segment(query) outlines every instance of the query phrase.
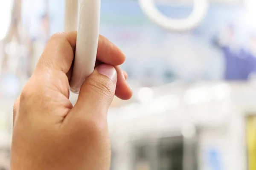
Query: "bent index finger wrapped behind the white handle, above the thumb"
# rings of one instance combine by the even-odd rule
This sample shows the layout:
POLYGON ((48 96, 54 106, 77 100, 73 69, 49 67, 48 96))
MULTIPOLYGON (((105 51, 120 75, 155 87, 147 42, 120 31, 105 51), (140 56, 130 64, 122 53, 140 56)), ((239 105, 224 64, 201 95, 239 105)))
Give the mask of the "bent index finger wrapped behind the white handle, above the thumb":
MULTIPOLYGON (((76 51, 77 31, 54 34, 46 45, 35 71, 70 70, 76 51)), ((99 35, 97 60, 110 65, 121 65, 125 54, 107 38, 99 35)))

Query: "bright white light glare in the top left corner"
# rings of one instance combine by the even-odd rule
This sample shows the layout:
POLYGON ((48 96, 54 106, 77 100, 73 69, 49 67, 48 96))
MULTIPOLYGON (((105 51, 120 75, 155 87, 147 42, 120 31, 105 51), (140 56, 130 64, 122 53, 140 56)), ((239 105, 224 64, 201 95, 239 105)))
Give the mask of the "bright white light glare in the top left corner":
POLYGON ((0 0, 0 40, 6 36, 11 22, 12 0, 0 0))

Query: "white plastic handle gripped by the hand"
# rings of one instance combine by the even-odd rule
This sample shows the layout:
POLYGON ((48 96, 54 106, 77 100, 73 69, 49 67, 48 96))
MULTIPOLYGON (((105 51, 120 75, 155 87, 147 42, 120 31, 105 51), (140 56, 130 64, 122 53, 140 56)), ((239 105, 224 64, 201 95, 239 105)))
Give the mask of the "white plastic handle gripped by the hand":
POLYGON ((70 80, 70 90, 74 93, 79 93, 82 83, 94 70, 99 40, 99 19, 100 0, 66 0, 65 31, 78 29, 76 55, 70 80))

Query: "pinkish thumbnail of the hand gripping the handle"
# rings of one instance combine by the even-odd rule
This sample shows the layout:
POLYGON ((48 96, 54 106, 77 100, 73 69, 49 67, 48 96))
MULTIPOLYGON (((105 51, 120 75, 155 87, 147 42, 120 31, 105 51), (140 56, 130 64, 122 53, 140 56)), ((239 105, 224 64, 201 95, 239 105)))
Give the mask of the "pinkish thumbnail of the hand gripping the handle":
POLYGON ((116 69, 112 65, 102 64, 97 68, 97 71, 99 72, 99 74, 107 76, 113 82, 116 82, 117 80, 116 69))

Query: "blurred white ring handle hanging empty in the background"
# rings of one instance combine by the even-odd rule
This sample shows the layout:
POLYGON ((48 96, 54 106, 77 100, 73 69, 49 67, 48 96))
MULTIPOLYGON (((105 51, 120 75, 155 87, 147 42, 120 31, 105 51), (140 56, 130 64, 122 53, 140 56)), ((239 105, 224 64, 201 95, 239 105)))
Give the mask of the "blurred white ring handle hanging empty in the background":
POLYGON ((144 14, 153 23, 171 31, 187 31, 195 28, 204 20, 209 8, 209 0, 194 0, 194 9, 189 17, 175 20, 163 15, 154 0, 139 0, 139 4, 144 14))

